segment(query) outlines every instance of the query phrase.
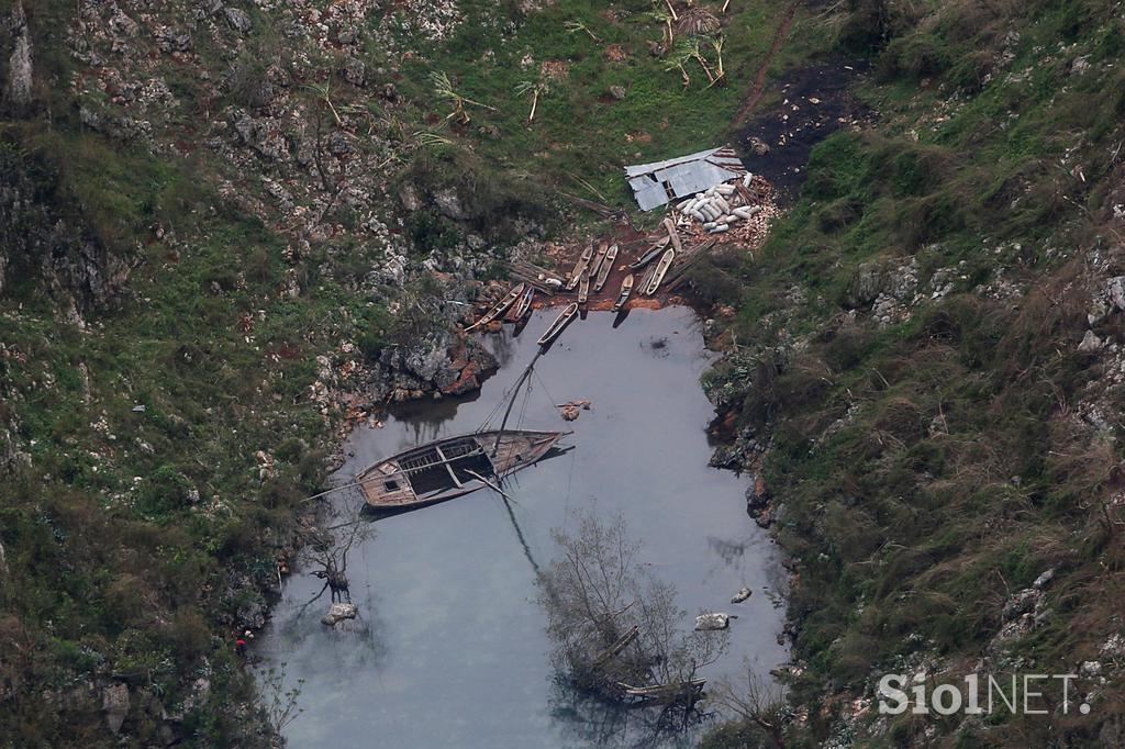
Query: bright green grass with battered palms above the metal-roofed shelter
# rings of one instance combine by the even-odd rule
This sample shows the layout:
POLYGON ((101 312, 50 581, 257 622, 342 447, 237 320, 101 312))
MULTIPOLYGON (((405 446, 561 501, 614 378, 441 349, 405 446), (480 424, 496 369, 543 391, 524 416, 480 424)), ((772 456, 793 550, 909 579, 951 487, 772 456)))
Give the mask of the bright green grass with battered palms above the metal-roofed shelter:
MULTIPOLYGON (((460 144, 558 189, 621 206, 629 205, 629 192, 620 166, 728 137, 784 9, 780 3, 734 3, 723 16, 728 85, 706 88, 702 67, 692 62, 686 65, 692 84, 685 89, 680 73, 666 70, 665 60, 649 51, 648 42, 659 40, 662 31, 647 0, 614 2, 609 9, 586 0, 551 3, 523 18, 514 34, 504 34, 494 21, 495 3, 474 0, 461 7, 467 20, 451 39, 425 58, 403 64, 403 89, 416 101, 430 102, 423 114, 431 121, 444 118, 448 110, 433 102, 429 76, 435 70, 447 73, 461 93, 496 109, 470 107, 472 123, 460 144), (567 21, 584 24, 600 42, 572 30, 567 21), (621 60, 611 58, 611 47, 621 60), (521 65, 525 55, 532 61, 526 67, 521 65), (567 74, 551 84, 529 126, 531 99, 515 89, 537 80, 548 61, 565 63, 567 74), (614 85, 626 89, 623 100, 611 98, 614 85)), ((778 65, 808 49, 811 39, 795 38, 778 65)), ((708 54, 714 62, 714 53, 708 54)))

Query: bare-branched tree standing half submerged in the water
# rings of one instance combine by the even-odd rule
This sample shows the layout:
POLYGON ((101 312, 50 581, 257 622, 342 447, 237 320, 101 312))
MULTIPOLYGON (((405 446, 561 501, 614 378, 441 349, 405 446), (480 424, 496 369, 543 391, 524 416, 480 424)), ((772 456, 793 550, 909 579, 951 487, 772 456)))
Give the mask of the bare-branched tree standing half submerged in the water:
POLYGON ((540 602, 556 666, 604 697, 694 706, 699 669, 726 650, 727 632, 684 631, 675 587, 644 571, 620 516, 582 513, 574 533, 554 536, 561 553, 541 577, 540 602))

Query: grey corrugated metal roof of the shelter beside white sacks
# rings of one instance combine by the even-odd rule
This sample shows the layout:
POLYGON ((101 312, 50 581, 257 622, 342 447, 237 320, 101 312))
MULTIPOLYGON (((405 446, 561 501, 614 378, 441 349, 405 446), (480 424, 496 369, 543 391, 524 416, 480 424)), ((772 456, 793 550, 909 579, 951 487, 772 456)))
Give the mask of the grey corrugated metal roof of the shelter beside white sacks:
POLYGON ((651 164, 626 166, 629 187, 641 210, 651 210, 669 200, 702 192, 745 173, 742 162, 728 147, 709 148, 651 164))

